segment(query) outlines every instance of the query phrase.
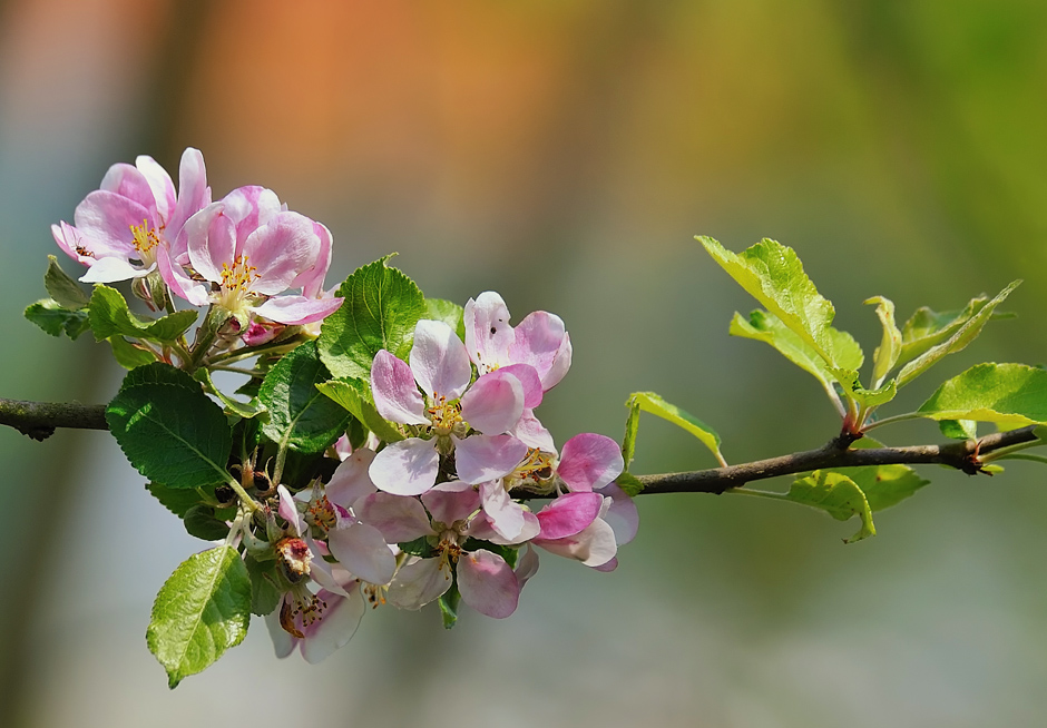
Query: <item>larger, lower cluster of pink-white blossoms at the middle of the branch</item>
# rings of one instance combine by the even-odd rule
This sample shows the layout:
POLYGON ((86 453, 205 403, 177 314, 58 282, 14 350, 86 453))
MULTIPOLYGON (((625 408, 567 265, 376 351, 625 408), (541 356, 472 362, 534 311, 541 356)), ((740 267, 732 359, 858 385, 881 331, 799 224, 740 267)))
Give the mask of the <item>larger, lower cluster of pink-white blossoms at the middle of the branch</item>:
POLYGON ((558 452, 535 416, 570 366, 562 321, 536 312, 512 327, 493 292, 470 299, 463 318, 464 343, 423 319, 408 362, 374 357, 375 406, 403 440, 344 453, 327 483, 296 499, 278 488, 285 538, 297 544, 278 555, 284 572, 319 589, 290 589, 268 619, 281 656, 300 646, 323 659, 366 602, 419 609, 452 586, 474 610, 509 617, 538 570, 535 547, 610 571, 635 535, 636 508, 614 482, 618 444, 585 433, 558 452), (535 512, 521 499, 546 503, 535 512))

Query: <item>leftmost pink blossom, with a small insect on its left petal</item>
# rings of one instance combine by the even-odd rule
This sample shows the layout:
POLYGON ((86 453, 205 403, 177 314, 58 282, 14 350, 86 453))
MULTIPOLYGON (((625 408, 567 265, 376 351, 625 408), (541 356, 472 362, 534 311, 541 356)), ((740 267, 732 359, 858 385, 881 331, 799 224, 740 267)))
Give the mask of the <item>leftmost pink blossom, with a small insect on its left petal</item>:
POLYGON ((135 166, 116 164, 99 189, 77 205, 76 225, 51 226, 58 246, 88 266, 85 283, 140 278, 156 269, 159 258, 177 255, 176 243, 186 220, 211 203, 211 188, 199 150, 182 155, 176 196, 170 176, 153 157, 135 166))

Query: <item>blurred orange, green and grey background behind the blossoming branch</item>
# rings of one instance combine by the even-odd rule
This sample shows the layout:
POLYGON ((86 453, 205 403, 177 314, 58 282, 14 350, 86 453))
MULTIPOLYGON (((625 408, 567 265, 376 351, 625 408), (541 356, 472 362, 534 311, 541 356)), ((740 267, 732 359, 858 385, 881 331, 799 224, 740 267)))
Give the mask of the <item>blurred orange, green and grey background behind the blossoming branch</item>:
MULTIPOLYGON (((559 314, 574 371, 540 412, 559 442, 619 439, 626 396, 654 390, 731 462, 818 446, 832 407, 727 336, 754 302, 693 236, 794 247, 870 357, 867 297, 903 321, 1025 278, 1019 318, 889 412, 978 361, 1044 362, 1045 78, 1047 4, 1022 0, 0 0, 0 396, 115 394, 108 347, 21 318, 58 253, 48 226, 114 161, 174 171, 194 146, 216 199, 265 185, 333 230, 331 284, 398 250, 431 296, 559 314)), ((1024 463, 929 470, 853 545, 854 523, 800 506, 640 498, 615 573, 545 557, 506 621, 444 632, 433 610, 379 609, 310 667, 277 661, 255 620, 172 692, 144 633, 206 544, 106 433, 4 429, 0 462, 3 726, 1047 720, 1047 488, 1024 463)), ((643 422, 636 472, 712 465, 643 422)))

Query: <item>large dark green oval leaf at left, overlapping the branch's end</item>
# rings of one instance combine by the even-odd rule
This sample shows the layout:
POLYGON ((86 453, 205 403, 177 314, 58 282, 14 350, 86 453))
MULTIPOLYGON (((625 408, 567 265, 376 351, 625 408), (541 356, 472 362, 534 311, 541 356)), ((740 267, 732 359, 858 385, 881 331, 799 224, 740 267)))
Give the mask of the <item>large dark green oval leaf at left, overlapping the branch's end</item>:
POLYGON ((106 422, 139 473, 168 488, 226 482, 233 434, 222 407, 169 364, 131 370, 106 422))

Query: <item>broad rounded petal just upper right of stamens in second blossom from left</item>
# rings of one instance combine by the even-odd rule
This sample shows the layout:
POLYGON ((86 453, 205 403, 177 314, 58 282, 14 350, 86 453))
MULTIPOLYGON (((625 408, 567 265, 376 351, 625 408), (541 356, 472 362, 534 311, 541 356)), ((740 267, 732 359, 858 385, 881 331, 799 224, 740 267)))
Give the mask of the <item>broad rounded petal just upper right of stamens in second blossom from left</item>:
POLYGON ((316 265, 320 238, 313 222, 297 213, 278 213, 247 236, 241 255, 258 276, 252 293, 275 296, 291 287, 299 274, 316 265))

